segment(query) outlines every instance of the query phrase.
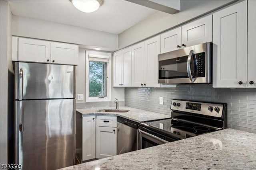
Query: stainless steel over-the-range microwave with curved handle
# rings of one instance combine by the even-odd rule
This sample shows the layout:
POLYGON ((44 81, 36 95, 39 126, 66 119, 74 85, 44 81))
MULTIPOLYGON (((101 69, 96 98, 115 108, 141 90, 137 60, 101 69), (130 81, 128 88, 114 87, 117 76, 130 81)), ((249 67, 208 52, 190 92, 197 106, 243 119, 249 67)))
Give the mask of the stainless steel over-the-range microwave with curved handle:
POLYGON ((212 82, 212 43, 203 43, 158 55, 158 83, 212 82))

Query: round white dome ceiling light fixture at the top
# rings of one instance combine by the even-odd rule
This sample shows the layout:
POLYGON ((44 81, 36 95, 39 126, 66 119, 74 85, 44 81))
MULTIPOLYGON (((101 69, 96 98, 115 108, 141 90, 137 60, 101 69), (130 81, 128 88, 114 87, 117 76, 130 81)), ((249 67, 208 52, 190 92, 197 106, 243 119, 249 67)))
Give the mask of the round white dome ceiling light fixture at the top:
POLYGON ((70 0, 74 7, 82 12, 94 12, 104 4, 104 0, 70 0))

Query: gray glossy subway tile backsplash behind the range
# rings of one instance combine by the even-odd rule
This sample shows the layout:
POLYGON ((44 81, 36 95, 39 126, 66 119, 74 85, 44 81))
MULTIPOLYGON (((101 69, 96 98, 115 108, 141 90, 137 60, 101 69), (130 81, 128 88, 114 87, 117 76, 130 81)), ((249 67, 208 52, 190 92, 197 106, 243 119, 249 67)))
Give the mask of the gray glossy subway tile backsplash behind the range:
POLYGON ((170 115, 172 99, 225 102, 228 127, 256 133, 256 89, 212 88, 212 85, 177 85, 177 88, 125 88, 125 106, 170 115), (159 97, 164 105, 159 105, 159 97))

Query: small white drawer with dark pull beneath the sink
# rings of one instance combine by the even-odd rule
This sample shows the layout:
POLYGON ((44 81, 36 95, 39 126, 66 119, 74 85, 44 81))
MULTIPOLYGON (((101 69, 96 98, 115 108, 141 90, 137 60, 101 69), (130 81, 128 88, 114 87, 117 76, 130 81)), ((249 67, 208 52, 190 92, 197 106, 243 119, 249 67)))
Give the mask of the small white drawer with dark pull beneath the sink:
POLYGON ((97 116, 96 126, 116 127, 116 116, 97 116))

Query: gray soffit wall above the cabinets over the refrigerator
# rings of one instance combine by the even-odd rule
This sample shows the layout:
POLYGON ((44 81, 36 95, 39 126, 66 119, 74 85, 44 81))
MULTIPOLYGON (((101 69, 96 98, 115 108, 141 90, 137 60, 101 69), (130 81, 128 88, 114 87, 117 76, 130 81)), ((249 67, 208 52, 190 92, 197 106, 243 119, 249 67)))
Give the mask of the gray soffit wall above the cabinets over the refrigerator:
POLYGON ((12 35, 17 36, 96 46, 109 51, 118 47, 118 35, 113 33, 20 16, 13 16, 12 26, 12 35))

